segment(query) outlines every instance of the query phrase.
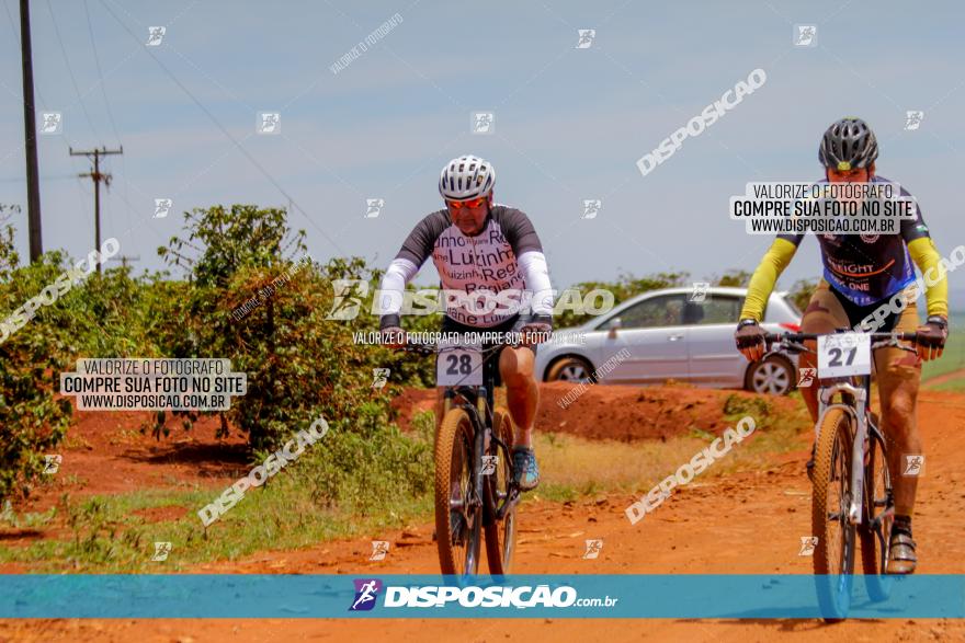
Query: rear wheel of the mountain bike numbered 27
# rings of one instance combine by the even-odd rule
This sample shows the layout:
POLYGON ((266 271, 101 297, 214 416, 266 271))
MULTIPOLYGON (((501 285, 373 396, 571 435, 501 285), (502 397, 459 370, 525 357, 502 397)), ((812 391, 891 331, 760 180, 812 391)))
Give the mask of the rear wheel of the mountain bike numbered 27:
POLYGON ((888 460, 884 446, 874 436, 869 440, 864 482, 864 524, 858 530, 861 569, 867 595, 872 600, 881 601, 890 596, 895 581, 886 574, 895 506, 888 460))

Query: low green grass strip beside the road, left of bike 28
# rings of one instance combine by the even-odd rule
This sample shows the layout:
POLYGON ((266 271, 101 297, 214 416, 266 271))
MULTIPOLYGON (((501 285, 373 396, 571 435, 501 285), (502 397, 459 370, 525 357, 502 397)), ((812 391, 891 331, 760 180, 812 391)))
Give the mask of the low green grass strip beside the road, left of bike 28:
MULTIPOLYGON (((245 500, 205 529, 196 510, 216 493, 136 492, 92 496, 82 502, 65 497, 46 515, 15 516, 19 527, 67 525, 68 540, 38 540, 26 547, 0 547, 0 561, 36 563, 37 572, 174 572, 193 564, 237 560, 258 551, 296 549, 336 538, 404 527, 431 514, 431 498, 394 498, 391 508, 370 515, 314 506, 297 480, 280 480, 249 491, 245 500), (188 508, 178 520, 149 523, 138 509, 188 508), (151 561, 155 542, 171 542, 168 561, 151 561)), ((295 478, 287 475, 287 478, 295 478)))

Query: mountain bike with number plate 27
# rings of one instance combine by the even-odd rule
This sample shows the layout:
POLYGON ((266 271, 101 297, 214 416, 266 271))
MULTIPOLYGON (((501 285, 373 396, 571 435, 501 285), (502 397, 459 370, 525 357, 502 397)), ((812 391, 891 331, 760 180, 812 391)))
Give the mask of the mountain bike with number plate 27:
POLYGON ((815 425, 811 538, 815 588, 821 615, 839 621, 851 607, 855 546, 861 541, 865 588, 874 601, 888 598, 888 546, 895 518, 892 472, 878 418, 869 407, 873 352, 915 342, 916 333, 769 334, 788 353, 815 353, 819 414, 815 425), (802 342, 817 341, 817 351, 802 342), (858 466, 855 466, 858 463, 858 466))

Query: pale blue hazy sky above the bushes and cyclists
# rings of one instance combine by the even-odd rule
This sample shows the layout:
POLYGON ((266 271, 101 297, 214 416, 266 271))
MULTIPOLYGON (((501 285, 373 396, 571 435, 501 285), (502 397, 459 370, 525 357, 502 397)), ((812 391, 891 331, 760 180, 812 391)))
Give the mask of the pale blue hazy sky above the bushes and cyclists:
MULTIPOLYGON (((25 206, 19 9, 2 1, 0 203, 25 206)), ((497 200, 533 219, 557 286, 752 269, 770 240, 728 219, 728 197, 749 181, 818 177, 820 134, 859 115, 878 135, 878 172, 918 196, 946 254, 965 243, 954 179, 965 7, 919 7, 34 0, 38 111, 64 114, 64 134, 39 139, 44 246, 78 256, 93 244, 92 186, 75 176, 88 163, 68 146, 123 143, 105 162, 103 236, 150 269, 181 211, 290 198, 315 259, 387 264, 441 206, 443 163, 472 152, 495 164, 497 200), (396 13, 390 33, 332 73, 396 13), (793 46, 795 24, 818 26, 816 47, 793 46), (152 25, 167 33, 145 47, 152 25), (597 30, 591 47, 576 48, 578 28, 597 30), (761 89, 640 175, 638 158, 756 68, 761 89), (918 130, 904 129, 908 110, 924 112, 918 130), (281 113, 281 135, 256 134, 259 111, 281 113), (493 135, 470 133, 474 111, 495 113, 493 135), (151 219, 158 197, 177 216, 151 219), (378 218, 364 217, 368 197, 385 199, 378 218), (584 198, 603 200, 597 218, 580 218, 584 198)), ((25 213, 12 222, 25 255, 25 213)), ((806 240, 781 286, 816 276, 818 262, 806 240)), ((433 278, 427 266, 418 280, 433 278)))

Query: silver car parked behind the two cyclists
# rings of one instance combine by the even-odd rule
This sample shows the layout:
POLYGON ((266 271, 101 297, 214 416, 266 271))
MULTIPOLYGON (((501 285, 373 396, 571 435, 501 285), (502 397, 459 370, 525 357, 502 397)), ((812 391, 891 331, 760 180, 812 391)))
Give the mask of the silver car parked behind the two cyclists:
MULTIPOLYGON (((775 354, 748 364, 734 344, 746 288, 651 290, 542 344, 536 377, 544 381, 647 384, 666 380, 785 394, 797 383, 796 359, 775 354), (572 338, 572 341, 569 341, 572 338), (605 365, 605 366, 604 366, 605 365)), ((797 331, 801 312, 786 292, 764 311, 769 332, 797 331)))

